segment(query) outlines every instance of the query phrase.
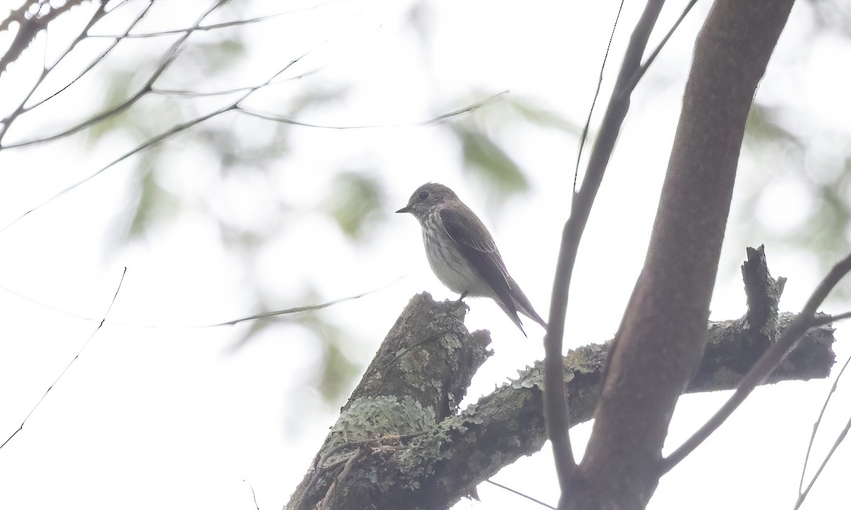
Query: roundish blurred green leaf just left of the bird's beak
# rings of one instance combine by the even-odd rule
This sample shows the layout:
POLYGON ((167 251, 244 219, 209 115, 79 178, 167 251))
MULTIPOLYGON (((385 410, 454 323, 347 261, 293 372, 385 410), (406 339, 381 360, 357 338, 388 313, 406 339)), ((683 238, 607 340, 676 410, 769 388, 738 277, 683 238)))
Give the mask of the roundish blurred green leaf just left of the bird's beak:
POLYGON ((384 210, 381 184, 364 173, 340 173, 331 184, 325 208, 346 235, 360 239, 384 210))

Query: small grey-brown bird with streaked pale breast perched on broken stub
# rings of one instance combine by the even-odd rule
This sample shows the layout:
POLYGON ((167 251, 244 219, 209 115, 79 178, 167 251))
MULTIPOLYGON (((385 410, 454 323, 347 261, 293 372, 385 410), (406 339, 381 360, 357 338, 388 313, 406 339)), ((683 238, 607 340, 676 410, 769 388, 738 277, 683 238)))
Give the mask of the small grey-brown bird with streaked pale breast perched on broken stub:
POLYGON ((459 292, 460 299, 490 297, 523 336, 527 335, 518 312, 546 328, 505 269, 488 228, 453 190, 443 184, 423 184, 397 212, 409 212, 420 222, 431 270, 449 290, 459 292))

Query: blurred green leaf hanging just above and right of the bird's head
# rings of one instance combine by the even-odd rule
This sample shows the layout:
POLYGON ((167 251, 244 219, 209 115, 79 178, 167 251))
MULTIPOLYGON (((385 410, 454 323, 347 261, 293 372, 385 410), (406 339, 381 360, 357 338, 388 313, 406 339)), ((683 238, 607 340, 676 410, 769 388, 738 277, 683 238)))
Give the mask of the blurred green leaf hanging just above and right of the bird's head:
POLYGON ((528 189, 528 180, 517 163, 487 134, 459 125, 454 132, 461 139, 464 160, 476 173, 503 193, 528 189))

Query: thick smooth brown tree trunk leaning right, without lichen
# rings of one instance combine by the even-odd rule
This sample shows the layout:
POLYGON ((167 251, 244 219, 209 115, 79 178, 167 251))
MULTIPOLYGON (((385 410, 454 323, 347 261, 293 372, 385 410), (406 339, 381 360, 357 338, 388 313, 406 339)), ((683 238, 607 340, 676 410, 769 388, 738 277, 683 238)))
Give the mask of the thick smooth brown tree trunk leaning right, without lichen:
POLYGON ((571 508, 643 508, 706 317, 745 121, 792 0, 717 0, 700 31, 647 259, 610 356, 571 508))

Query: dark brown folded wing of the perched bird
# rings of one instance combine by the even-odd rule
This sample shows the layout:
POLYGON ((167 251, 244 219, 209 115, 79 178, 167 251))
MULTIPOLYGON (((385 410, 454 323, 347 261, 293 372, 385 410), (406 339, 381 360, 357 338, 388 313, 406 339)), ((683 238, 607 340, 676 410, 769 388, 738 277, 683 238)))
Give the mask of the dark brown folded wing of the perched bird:
POLYGON ((446 233, 455 241, 461 254, 494 289, 494 292, 502 301, 501 305, 505 309, 505 313, 523 331, 520 318, 517 316, 517 307, 514 306, 514 300, 511 299, 511 286, 509 284, 511 277, 505 269, 500 251, 496 249, 496 243, 494 238, 490 236, 488 229, 472 211, 469 211, 469 214, 463 214, 461 211, 447 207, 442 209, 439 214, 443 220, 446 233))

